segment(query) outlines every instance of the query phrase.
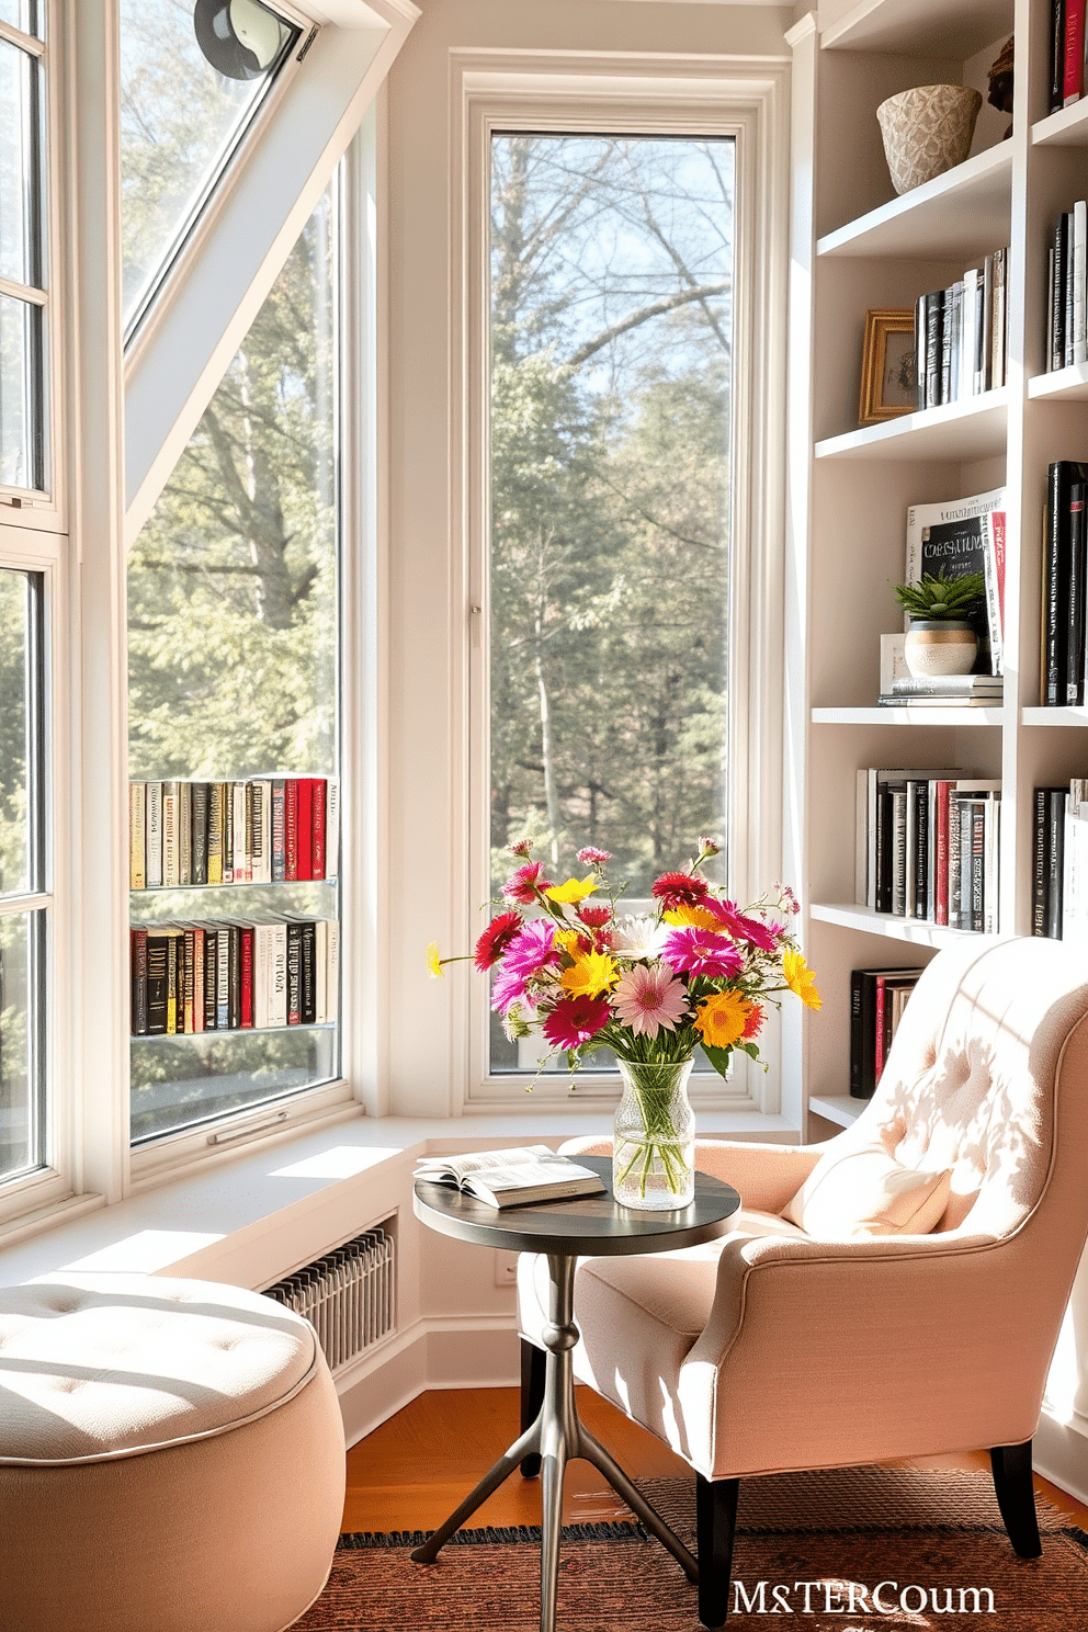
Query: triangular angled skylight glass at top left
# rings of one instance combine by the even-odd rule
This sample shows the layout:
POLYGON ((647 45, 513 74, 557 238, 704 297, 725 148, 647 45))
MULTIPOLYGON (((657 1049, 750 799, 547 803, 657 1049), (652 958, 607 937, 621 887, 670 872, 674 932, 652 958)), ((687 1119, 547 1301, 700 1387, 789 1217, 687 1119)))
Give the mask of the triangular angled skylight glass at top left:
POLYGON ((263 0, 121 0, 126 338, 300 36, 263 0))

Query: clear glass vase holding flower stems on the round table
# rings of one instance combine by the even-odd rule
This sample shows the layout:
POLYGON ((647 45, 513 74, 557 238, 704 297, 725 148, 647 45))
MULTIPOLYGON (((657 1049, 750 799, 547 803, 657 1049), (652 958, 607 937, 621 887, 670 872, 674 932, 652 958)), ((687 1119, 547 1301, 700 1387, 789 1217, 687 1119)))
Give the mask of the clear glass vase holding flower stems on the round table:
POLYGON ((692 1061, 618 1064, 623 1098, 612 1144, 613 1195, 625 1208, 685 1208, 695 1195, 695 1113, 687 1097, 692 1061))

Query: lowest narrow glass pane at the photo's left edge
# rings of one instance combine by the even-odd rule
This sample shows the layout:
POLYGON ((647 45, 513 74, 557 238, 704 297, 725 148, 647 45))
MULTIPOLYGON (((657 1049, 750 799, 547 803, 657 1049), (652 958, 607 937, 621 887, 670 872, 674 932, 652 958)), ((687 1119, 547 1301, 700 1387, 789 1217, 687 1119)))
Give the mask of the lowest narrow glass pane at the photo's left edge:
POLYGON ((44 1162, 44 912, 0 917, 0 1180, 44 1162))

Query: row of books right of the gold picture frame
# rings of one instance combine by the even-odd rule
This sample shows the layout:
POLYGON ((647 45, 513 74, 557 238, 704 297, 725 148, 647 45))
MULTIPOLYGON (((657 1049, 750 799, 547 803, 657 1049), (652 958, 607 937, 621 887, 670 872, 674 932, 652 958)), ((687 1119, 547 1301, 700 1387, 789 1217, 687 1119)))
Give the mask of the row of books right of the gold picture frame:
POLYGON ((1005 384, 1008 250, 969 266, 949 289, 918 295, 913 313, 918 408, 980 397, 1005 384))

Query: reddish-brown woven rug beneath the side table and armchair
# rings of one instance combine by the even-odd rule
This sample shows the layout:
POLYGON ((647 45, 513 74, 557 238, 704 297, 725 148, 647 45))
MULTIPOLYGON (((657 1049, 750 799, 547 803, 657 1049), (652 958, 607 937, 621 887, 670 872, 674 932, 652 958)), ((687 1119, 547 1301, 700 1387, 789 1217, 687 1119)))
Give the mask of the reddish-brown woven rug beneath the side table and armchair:
MULTIPOLYGON (((693 1549, 693 1485, 643 1488, 693 1549)), ((1037 1510, 1042 1557, 1024 1560, 985 1474, 869 1467, 747 1480, 729 1625, 1088 1632, 1088 1536, 1047 1503, 1037 1510)), ((343 1536, 299 1632, 537 1632, 538 1529, 462 1531, 432 1565, 409 1559, 421 1541, 343 1536)), ((695 1588, 638 1524, 564 1528, 558 1632, 698 1625, 695 1588)))

